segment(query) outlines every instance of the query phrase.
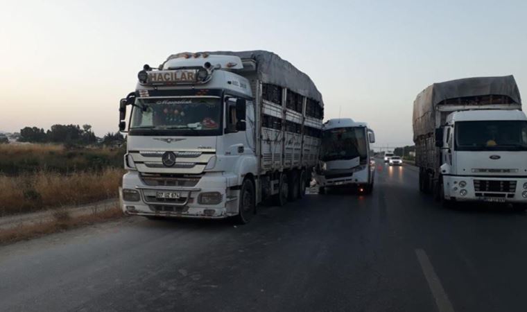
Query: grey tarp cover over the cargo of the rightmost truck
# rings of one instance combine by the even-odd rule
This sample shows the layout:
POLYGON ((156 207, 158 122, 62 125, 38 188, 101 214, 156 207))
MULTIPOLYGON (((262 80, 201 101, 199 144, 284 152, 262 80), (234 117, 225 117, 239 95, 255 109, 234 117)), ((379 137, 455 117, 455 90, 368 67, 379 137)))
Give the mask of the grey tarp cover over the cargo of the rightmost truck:
POLYGON ((451 98, 484 95, 509 96, 521 104, 514 76, 475 77, 434 83, 426 87, 413 102, 413 140, 435 130, 436 105, 451 98))

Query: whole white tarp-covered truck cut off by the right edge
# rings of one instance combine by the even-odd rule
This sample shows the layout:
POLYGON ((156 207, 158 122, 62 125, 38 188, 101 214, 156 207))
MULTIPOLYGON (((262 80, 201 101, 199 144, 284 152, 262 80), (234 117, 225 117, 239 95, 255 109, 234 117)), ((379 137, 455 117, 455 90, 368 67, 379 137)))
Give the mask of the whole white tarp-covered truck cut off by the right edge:
POLYGON ((419 186, 453 201, 527 203, 527 118, 513 76, 435 83, 414 102, 419 186))

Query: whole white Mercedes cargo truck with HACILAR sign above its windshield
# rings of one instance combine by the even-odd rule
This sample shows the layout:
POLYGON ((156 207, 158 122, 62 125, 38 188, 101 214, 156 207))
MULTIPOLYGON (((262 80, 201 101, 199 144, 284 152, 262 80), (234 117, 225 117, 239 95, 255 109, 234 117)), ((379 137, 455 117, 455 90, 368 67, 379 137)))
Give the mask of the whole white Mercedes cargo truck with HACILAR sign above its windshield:
POLYGON ((322 96, 267 51, 178 53, 138 73, 121 100, 128 123, 122 209, 247 223, 266 198, 304 196, 318 162, 322 96))

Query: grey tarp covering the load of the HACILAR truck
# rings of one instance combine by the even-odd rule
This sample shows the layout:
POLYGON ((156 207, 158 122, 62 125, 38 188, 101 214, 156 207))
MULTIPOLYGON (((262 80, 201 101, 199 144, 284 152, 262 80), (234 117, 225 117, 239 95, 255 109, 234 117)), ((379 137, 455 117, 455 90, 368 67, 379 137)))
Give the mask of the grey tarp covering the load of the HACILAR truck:
MULTIPOLYGON (((305 73, 298 70, 290 62, 282 60, 278 55, 269 51, 204 51, 198 53, 209 53, 210 55, 235 55, 242 60, 256 60, 257 62, 257 78, 263 83, 270 83, 272 85, 279 85, 280 87, 286 87, 291 91, 307 96, 320 103, 320 106, 324 107, 322 102, 322 94, 318 92, 316 85, 313 80, 309 78, 305 73)), ((170 55, 166 60, 172 58, 178 58, 182 53, 170 55)))

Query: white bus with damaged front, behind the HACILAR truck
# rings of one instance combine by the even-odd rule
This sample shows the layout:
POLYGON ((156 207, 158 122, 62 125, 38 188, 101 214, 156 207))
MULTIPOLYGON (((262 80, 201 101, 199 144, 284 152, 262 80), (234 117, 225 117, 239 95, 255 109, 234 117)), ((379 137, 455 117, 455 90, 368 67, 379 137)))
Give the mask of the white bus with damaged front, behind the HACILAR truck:
POLYGON ((371 193, 374 164, 370 162, 373 130, 366 123, 349 118, 329 119, 324 123, 320 164, 315 179, 319 193, 329 187, 349 187, 359 193, 371 193))

